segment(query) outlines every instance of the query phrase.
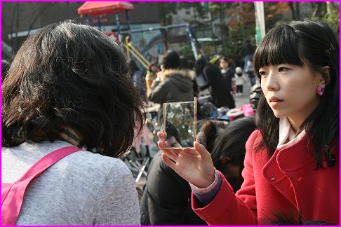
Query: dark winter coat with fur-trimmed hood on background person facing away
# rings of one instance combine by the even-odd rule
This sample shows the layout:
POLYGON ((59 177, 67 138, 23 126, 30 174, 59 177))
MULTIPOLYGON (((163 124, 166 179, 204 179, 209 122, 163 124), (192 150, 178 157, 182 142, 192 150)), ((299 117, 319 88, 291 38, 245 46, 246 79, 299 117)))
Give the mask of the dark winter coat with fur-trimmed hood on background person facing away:
POLYGON ((168 69, 163 71, 161 80, 156 79, 152 84, 149 99, 152 102, 185 102, 194 99, 194 74, 188 70, 168 69))

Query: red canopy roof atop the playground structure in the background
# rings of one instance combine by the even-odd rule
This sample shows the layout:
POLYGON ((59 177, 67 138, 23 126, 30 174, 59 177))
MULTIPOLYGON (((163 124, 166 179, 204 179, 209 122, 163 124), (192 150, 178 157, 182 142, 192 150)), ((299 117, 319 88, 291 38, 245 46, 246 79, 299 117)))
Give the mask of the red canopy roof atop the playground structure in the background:
POLYGON ((78 8, 79 15, 102 15, 121 11, 133 11, 134 5, 128 1, 86 1, 78 8))

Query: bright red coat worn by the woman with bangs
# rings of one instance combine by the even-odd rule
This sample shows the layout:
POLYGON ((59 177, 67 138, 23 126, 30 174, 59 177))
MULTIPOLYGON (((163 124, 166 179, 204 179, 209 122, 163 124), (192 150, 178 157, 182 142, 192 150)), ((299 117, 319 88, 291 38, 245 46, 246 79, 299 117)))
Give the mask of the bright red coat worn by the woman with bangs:
MULTIPOLYGON (((272 158, 267 151, 255 151, 262 136, 256 130, 246 142, 244 178, 234 195, 225 177, 212 202, 200 208, 192 193, 192 208, 210 225, 264 225, 274 214, 297 216, 303 221, 339 223, 339 144, 333 146, 333 167, 316 170, 312 144, 308 151, 305 137, 293 145, 276 150, 272 158), (257 195, 257 198, 256 198, 257 195)), ((326 166, 326 161, 323 161, 326 166)))

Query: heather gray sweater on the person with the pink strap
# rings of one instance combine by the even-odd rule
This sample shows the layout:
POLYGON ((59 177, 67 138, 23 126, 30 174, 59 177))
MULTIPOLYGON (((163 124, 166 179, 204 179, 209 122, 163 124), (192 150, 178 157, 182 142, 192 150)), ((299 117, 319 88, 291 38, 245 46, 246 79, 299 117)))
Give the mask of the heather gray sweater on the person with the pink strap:
MULTIPOLYGON (((1 148, 1 183, 13 183, 36 160, 67 142, 1 148)), ((122 160, 72 153, 27 187, 16 225, 140 225, 138 193, 122 160)))

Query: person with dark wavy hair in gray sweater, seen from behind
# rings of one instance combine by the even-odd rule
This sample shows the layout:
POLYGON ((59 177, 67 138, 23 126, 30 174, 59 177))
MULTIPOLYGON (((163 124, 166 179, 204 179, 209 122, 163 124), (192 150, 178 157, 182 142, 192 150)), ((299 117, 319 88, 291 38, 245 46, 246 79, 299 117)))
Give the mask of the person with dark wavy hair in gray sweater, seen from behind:
POLYGON ((1 88, 3 224, 140 224, 133 176, 118 158, 144 106, 116 43, 86 25, 48 25, 22 44, 1 88))

